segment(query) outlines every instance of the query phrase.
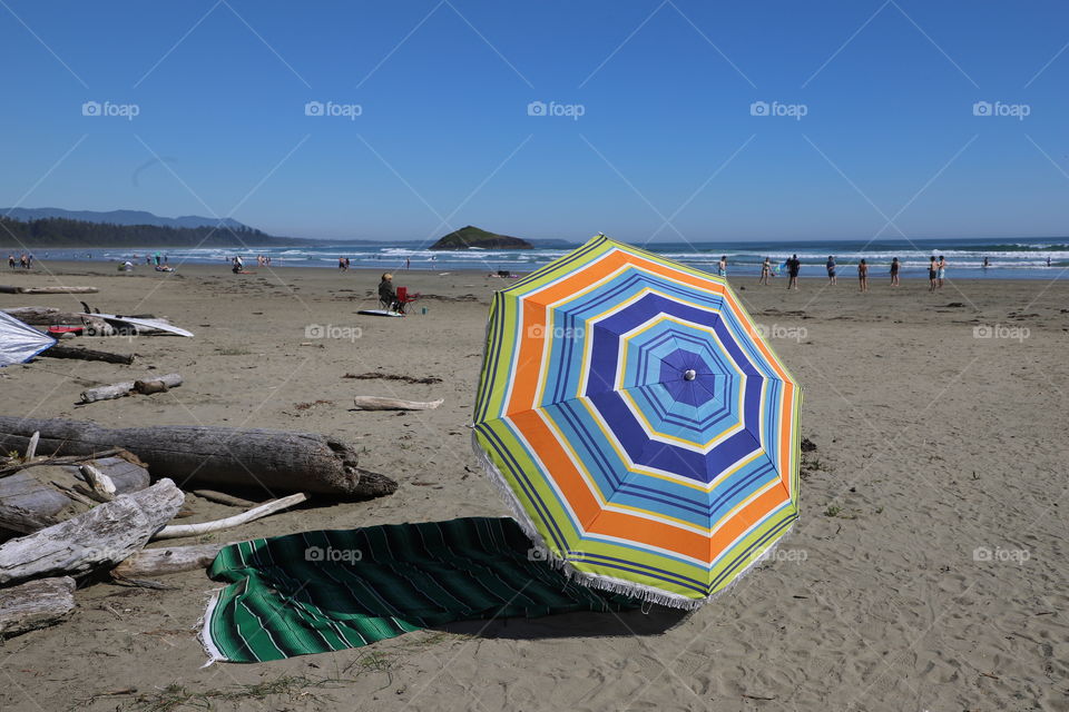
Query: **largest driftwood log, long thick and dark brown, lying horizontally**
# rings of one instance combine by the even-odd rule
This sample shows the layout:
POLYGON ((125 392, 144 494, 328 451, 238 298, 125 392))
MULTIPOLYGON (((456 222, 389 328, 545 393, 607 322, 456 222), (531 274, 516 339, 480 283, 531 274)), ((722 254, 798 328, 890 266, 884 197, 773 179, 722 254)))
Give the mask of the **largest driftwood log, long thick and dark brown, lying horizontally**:
POLYGON ((398 488, 390 477, 360 468, 352 447, 316 433, 194 425, 109 429, 84 421, 0 416, 0 452, 22 452, 33 431, 41 432, 41 453, 122 447, 146 463, 153 476, 182 483, 350 497, 377 497, 398 488))

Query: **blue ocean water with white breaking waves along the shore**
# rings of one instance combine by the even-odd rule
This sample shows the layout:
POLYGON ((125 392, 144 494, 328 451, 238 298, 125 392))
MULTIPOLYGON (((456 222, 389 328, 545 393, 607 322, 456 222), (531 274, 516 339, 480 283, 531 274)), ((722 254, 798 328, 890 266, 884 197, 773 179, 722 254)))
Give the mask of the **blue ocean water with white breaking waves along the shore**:
MULTIPOLYGON (((578 246, 578 244, 577 244, 578 246)), ((720 255, 728 260, 729 277, 756 278, 761 274, 761 263, 771 257, 774 265, 781 265, 792 254, 802 260, 803 277, 824 277, 824 263, 834 255, 841 277, 856 275, 857 261, 866 259, 870 276, 879 279, 885 276, 891 259, 898 257, 902 264, 903 278, 928 278, 928 263, 932 255, 942 255, 948 260, 950 278, 1026 278, 1065 279, 1069 278, 1069 237, 1046 239, 955 239, 955 240, 881 240, 865 241, 779 241, 779 243, 650 243, 645 246, 650 251, 661 254, 698 269, 716 270, 720 255), (983 267, 984 258, 989 267, 983 267), (1049 264, 1048 264, 1049 260, 1049 264)), ((53 259, 90 259, 121 261, 131 259, 144 264, 145 256, 154 254, 153 248, 145 249, 100 249, 100 250, 48 250, 39 257, 53 259)), ((531 250, 429 250, 425 246, 410 243, 382 244, 326 244, 302 247, 271 247, 234 250, 224 248, 160 250, 171 265, 183 261, 227 264, 239 254, 249 268, 255 269, 256 255, 269 255, 273 266, 337 268, 340 256, 349 257, 354 268, 374 268, 391 271, 411 269, 450 271, 475 269, 487 273, 508 269, 526 273, 548 264, 568 253, 567 248, 531 250)))

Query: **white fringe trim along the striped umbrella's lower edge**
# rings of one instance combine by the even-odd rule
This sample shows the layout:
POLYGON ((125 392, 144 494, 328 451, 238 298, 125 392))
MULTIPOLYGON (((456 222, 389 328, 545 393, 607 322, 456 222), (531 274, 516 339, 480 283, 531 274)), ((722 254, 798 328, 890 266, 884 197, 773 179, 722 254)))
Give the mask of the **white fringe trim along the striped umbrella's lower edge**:
MULTIPOLYGON (((512 492, 512 487, 509 486, 509 483, 501 474, 501 471, 498 469, 498 466, 493 464, 493 461, 490 459, 490 456, 487 454, 487 452, 479 446, 479 441, 474 433, 472 433, 471 436, 471 446, 475 452, 475 456, 479 457, 479 462, 482 463, 482 468, 487 473, 490 482, 493 483, 493 486, 501 492, 503 500, 509 505, 509 510, 512 511, 512 518, 516 520, 516 523, 520 525, 520 528, 523 530, 523 533, 527 534, 532 544, 538 545, 539 543, 543 542, 542 535, 538 532, 538 528, 531 521, 530 515, 528 515, 528 513, 523 510, 523 506, 517 498, 516 493, 512 492)), ((757 567, 757 564, 767 558, 773 552, 775 552, 776 547, 778 547, 782 542, 786 541, 794 533, 795 524, 797 524, 797 520, 795 520, 795 522, 787 527, 787 531, 781 534, 779 537, 772 543, 772 545, 763 551, 759 556, 754 557, 754 560, 746 565, 746 568, 736 574, 730 583, 722 587, 719 591, 702 599, 688 599, 686 596, 659 591, 645 584, 632 583, 621 578, 614 578, 612 576, 578 571, 569 562, 561 558, 557 552, 545 546, 543 548, 549 554, 548 562, 555 568, 562 571, 565 575, 568 576, 569 581, 575 581, 576 583, 589 586, 591 589, 600 589, 601 591, 608 591, 609 593, 619 593, 626 596, 631 596, 643 601, 644 603, 656 603, 658 605, 670 606, 673 609, 694 611, 738 585, 738 583, 746 577, 749 572, 757 567)))

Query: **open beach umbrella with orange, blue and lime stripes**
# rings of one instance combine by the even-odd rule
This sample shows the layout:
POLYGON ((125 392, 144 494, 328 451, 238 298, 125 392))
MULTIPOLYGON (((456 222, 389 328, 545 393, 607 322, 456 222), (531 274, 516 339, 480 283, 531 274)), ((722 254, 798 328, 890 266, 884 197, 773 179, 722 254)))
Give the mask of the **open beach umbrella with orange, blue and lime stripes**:
POLYGON ((532 556, 696 607, 797 518, 801 404, 725 279, 599 235, 494 296, 473 442, 532 556))

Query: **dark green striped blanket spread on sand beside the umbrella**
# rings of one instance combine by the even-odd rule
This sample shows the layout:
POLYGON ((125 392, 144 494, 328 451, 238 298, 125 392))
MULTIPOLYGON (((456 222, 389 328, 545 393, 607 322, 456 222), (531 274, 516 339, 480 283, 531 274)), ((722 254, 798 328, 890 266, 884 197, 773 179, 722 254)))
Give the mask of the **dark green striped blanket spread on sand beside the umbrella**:
POLYGON ((484 517, 233 544, 208 571, 229 585, 208 603, 202 640, 213 660, 248 663, 452 621, 638 605, 570 582, 530 546, 512 520, 484 517))

